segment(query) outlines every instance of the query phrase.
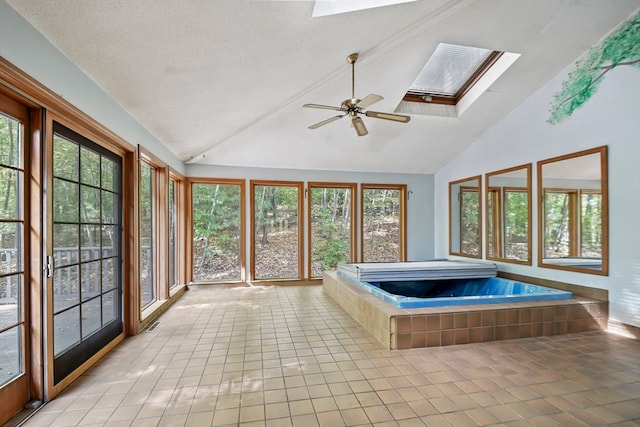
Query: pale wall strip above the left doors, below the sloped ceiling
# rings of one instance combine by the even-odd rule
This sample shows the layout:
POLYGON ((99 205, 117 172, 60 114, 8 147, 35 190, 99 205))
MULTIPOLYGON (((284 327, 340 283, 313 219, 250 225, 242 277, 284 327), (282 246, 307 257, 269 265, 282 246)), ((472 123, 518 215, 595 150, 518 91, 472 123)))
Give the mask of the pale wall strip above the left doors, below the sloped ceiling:
POLYGON ((142 145, 184 173, 182 161, 3 0, 0 56, 131 145, 142 145))

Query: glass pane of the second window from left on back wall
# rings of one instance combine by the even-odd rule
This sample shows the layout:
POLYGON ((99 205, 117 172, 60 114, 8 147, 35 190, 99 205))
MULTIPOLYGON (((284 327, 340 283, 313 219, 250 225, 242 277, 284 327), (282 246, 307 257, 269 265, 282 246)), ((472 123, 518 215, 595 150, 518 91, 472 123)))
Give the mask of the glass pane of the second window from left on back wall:
POLYGON ((298 187, 254 187, 254 279, 300 277, 298 187))

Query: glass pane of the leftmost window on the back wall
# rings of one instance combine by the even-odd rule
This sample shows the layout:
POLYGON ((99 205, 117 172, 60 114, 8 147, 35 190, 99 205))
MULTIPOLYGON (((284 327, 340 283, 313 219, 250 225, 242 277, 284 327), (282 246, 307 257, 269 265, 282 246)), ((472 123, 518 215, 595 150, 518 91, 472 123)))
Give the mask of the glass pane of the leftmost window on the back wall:
POLYGON ((193 222, 193 280, 242 280, 239 184, 194 183, 191 187, 193 222))

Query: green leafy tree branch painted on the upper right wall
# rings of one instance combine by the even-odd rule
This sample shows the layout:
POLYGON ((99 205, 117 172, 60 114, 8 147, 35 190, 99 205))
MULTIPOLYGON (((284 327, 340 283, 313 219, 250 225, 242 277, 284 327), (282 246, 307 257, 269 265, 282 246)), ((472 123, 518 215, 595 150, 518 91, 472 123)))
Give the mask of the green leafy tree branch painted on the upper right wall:
POLYGON ((562 89, 553 95, 547 121, 556 124, 569 117, 591 98, 609 71, 622 65, 640 66, 640 13, 576 63, 575 70, 562 83, 562 89))

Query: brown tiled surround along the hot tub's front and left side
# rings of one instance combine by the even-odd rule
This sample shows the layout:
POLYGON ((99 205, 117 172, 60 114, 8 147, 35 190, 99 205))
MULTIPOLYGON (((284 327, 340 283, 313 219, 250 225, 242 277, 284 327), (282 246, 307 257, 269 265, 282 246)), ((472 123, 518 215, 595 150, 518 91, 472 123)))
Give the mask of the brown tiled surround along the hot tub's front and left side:
POLYGON ((335 272, 324 291, 390 349, 438 347, 607 328, 608 302, 572 300, 399 309, 335 272))

